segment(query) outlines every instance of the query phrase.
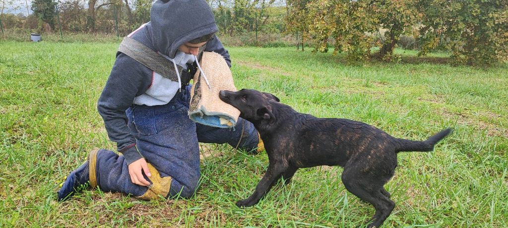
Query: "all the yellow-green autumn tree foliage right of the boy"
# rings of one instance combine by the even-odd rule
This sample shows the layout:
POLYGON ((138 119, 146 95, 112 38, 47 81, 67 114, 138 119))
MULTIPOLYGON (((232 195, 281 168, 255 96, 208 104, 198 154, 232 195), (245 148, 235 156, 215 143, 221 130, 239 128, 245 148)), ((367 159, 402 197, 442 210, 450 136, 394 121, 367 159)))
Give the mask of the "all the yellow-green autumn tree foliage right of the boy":
MULTIPOLYGON (((287 31, 300 31, 314 51, 390 59, 399 39, 417 38, 420 54, 444 47, 467 64, 508 60, 508 1, 289 0, 287 31)), ((407 45, 408 39, 404 44, 407 45)))

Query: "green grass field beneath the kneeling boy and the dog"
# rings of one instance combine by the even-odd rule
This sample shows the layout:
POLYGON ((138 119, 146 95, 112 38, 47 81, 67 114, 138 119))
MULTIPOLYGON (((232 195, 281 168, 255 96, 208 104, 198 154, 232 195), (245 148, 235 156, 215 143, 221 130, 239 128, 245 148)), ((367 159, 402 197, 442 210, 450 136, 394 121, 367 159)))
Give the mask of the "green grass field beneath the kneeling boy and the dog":
MULTIPOLYGON (((351 227, 374 208, 347 192, 339 167, 301 169, 258 205, 239 209, 266 154, 203 145, 191 200, 142 201, 89 190, 57 203, 88 151, 114 150, 96 109, 118 43, 0 41, 0 227, 351 227)), ((400 153, 387 184, 397 206, 385 227, 508 226, 508 67, 451 66, 446 55, 397 50, 393 63, 349 64, 294 48, 230 48, 237 88, 277 95, 297 111, 349 118, 395 137, 454 134, 434 152, 400 153)))

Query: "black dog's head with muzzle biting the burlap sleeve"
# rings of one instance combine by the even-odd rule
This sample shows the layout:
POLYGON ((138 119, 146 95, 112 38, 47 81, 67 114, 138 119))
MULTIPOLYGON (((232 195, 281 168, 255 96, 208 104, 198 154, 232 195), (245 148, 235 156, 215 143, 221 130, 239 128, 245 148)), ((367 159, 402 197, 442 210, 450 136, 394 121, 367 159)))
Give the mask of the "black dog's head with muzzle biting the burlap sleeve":
POLYGON ((232 92, 220 90, 220 100, 240 110, 240 117, 255 123, 267 120, 268 124, 275 122, 272 103, 280 100, 273 94, 254 89, 242 89, 232 92))

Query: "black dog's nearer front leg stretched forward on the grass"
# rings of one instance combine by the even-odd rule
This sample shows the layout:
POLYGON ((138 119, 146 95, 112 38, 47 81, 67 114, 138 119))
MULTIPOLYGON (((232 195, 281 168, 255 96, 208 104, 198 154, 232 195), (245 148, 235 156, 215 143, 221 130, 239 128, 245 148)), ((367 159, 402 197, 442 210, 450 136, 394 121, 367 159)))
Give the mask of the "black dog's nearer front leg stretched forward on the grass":
POLYGON ((249 198, 236 202, 236 206, 250 207, 257 204, 259 200, 265 196, 266 192, 270 190, 275 181, 278 180, 282 176, 282 173, 288 170, 288 168, 289 165, 287 162, 279 161, 273 162, 273 164, 270 162, 265 176, 263 176, 258 186, 256 186, 256 191, 254 191, 249 198))

